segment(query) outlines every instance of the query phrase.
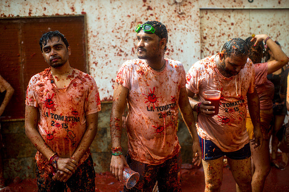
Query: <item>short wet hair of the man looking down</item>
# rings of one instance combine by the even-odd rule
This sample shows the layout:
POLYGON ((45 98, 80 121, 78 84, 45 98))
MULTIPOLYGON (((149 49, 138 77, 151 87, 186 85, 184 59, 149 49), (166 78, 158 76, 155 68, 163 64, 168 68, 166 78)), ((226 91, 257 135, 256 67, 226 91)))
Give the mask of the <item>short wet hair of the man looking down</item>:
POLYGON ((222 52, 225 53, 226 56, 231 56, 235 54, 235 56, 245 56, 249 54, 249 46, 247 43, 241 38, 233 38, 223 45, 222 52))

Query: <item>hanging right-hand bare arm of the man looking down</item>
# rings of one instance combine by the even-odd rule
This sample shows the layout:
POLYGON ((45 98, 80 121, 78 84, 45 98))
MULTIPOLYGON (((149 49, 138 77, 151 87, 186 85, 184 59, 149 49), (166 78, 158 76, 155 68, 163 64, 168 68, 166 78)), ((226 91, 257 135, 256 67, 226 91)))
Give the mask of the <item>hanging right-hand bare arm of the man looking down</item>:
POLYGON ((260 101, 256 91, 254 88, 253 93, 247 93, 248 100, 248 109, 250 113, 250 117, 254 127, 254 139, 252 140, 252 144, 254 144, 254 148, 259 146, 259 149, 263 143, 263 136, 261 133, 261 124, 260 124, 260 101))

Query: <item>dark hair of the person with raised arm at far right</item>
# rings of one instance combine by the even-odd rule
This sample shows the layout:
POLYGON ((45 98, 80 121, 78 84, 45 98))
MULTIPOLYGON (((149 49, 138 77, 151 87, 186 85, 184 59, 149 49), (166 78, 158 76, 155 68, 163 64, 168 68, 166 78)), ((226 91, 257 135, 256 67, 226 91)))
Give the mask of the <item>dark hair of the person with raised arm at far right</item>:
POLYGON ((251 41, 253 37, 248 37, 245 42, 249 46, 249 58, 253 63, 262 63, 262 59, 266 55, 263 41, 258 42, 257 45, 254 46, 255 41, 251 41))

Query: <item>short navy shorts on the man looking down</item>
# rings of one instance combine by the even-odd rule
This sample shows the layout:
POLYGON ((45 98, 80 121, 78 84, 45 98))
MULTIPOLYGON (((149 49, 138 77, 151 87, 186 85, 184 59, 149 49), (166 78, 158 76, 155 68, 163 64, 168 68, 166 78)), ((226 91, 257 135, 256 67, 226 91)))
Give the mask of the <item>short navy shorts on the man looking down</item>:
POLYGON ((204 160, 215 160, 226 156, 231 159, 239 160, 251 157, 250 143, 247 143, 242 149, 234 152, 223 152, 211 140, 204 140, 199 137, 199 145, 202 149, 202 158, 204 160))

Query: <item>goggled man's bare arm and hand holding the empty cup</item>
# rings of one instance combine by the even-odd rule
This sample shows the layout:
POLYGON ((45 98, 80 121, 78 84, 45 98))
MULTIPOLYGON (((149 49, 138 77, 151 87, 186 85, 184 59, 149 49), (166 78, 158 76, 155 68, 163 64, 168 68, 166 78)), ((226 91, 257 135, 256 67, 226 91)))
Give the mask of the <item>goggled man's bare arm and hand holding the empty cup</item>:
MULTIPOLYGON (((113 92, 112 109, 110 113, 110 137, 112 147, 121 147, 122 115, 126 106, 128 88, 115 83, 113 92)), ((123 180, 123 168, 129 167, 123 155, 112 156, 110 161, 110 172, 118 180, 123 180)))

